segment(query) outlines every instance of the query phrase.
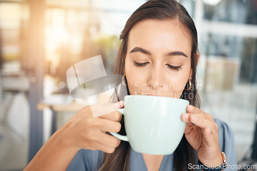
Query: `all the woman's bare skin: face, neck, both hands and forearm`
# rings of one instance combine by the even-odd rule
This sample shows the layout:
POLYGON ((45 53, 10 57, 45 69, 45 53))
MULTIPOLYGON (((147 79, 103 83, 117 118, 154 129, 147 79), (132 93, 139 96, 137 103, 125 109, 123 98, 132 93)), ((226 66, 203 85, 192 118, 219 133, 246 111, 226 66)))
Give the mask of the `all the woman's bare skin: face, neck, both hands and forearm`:
MULTIPOLYGON (((131 94, 181 96, 192 70, 190 36, 179 22, 143 20, 137 23, 130 32, 127 49, 124 71, 131 94), (135 50, 135 47, 141 49, 135 50), (150 54, 142 53, 142 49, 150 54), (171 53, 174 51, 188 57, 182 53, 174 55, 171 53), (148 63, 135 67, 134 61, 148 63), (168 65, 181 69, 176 71, 168 65)), ((109 103, 108 106, 123 108, 124 102, 109 103)), ((121 113, 116 110, 94 118, 90 106, 85 106, 50 137, 24 170, 65 170, 81 148, 113 153, 120 140, 106 132, 118 133, 120 119, 121 113)), ((218 128, 211 115, 189 105, 181 120, 187 122, 185 135, 198 151, 200 161, 221 165, 218 128)), ((148 170, 159 170, 163 156, 143 154, 143 158, 148 170)))

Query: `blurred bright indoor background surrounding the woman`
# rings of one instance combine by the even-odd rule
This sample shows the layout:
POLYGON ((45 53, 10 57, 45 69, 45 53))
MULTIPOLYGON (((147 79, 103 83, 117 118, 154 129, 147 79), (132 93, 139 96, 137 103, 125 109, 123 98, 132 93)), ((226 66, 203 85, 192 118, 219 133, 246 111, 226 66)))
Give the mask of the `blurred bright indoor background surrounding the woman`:
MULTIPOLYGON (((0 0, 0 170, 22 170, 87 104, 69 96, 67 69, 101 55, 112 73, 120 32, 144 2, 0 0)), ((178 2, 198 30, 201 109, 228 123, 237 160, 251 163, 257 158, 257 1, 178 2)))

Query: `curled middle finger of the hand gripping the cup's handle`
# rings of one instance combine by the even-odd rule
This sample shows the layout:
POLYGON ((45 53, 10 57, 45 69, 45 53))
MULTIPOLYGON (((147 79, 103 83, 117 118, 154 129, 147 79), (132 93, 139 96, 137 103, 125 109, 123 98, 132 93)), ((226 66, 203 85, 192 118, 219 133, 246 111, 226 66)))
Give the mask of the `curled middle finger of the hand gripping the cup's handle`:
POLYGON ((104 132, 118 133, 121 129, 121 123, 109 119, 99 119, 97 122, 99 129, 104 132))

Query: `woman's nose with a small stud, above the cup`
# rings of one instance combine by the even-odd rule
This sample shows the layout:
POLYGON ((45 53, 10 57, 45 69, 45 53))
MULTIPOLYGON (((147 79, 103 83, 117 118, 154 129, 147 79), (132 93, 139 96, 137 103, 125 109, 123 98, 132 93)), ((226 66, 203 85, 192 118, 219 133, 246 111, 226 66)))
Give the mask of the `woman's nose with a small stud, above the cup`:
POLYGON ((148 85, 152 87, 152 89, 158 90, 164 87, 165 79, 163 67, 160 64, 152 66, 149 78, 151 78, 151 80, 148 80, 148 85))

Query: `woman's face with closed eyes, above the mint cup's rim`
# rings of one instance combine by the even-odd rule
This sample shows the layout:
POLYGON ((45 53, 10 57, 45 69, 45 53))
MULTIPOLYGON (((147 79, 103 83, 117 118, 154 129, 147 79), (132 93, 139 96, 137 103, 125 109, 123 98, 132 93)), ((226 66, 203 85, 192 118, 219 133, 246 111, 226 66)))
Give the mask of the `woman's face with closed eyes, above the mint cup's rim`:
POLYGON ((175 20, 137 23, 128 36, 124 71, 131 95, 180 98, 192 75, 186 29, 175 20))

